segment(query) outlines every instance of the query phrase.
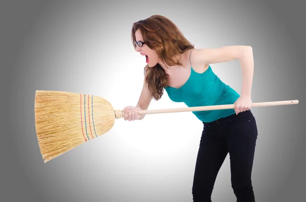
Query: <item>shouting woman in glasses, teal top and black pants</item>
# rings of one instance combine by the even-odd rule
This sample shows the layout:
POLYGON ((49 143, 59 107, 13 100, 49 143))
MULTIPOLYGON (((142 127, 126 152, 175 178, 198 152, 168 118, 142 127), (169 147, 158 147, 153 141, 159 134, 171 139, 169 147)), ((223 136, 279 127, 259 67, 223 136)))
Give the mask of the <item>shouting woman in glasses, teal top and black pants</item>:
POLYGON ((253 55, 250 46, 195 49, 168 18, 153 15, 132 27, 135 50, 145 56, 145 79, 136 106, 123 109, 124 120, 142 120, 138 110, 148 108, 166 90, 174 102, 187 106, 235 104, 235 109, 196 111, 203 131, 195 165, 193 201, 211 201, 218 171, 227 155, 231 160, 232 188, 237 201, 255 201, 251 182, 257 125, 251 113, 253 55), (239 60, 242 93, 223 83, 210 64, 239 60))

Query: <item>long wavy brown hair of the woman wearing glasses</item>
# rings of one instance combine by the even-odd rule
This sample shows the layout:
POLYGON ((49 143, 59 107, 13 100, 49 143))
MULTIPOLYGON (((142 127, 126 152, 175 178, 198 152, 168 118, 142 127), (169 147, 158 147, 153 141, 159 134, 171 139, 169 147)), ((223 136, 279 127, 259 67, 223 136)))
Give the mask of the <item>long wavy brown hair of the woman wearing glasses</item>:
MULTIPOLYGON (((179 28, 170 19, 161 15, 152 15, 133 23, 131 35, 134 48, 136 48, 137 30, 141 32, 146 45, 155 50, 159 59, 168 66, 182 65, 175 56, 194 48, 179 28)), ((146 65, 144 74, 146 73, 145 81, 148 88, 154 99, 159 100, 164 93, 163 88, 167 86, 167 74, 159 64, 151 68, 146 65)))

